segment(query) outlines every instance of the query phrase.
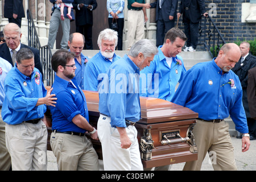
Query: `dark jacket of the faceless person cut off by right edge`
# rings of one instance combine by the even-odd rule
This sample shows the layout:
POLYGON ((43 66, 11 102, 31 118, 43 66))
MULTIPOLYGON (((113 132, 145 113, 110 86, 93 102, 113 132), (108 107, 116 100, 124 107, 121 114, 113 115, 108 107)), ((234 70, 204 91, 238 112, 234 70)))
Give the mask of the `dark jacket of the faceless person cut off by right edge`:
POLYGON ((248 71, 247 96, 251 118, 256 119, 256 67, 248 71))

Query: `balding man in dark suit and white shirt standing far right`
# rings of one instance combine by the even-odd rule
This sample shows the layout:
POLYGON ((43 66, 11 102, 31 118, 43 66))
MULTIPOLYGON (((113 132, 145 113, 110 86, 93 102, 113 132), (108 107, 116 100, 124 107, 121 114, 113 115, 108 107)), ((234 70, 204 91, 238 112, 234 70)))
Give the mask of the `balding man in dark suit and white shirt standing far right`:
MULTIPOLYGON (((243 108, 245 108, 247 125, 249 127, 250 140, 254 140, 256 139, 256 122, 255 122, 255 119, 251 118, 250 116, 250 110, 249 110, 248 99, 247 99, 247 85, 248 85, 247 81, 248 81, 249 69, 256 67, 256 57, 249 53, 250 44, 247 42, 242 42, 240 44, 240 50, 241 50, 241 59, 234 66, 234 68, 232 68, 232 71, 236 73, 236 75, 239 77, 242 85, 243 108)), ((242 138, 242 137, 238 135, 237 138, 242 138)))

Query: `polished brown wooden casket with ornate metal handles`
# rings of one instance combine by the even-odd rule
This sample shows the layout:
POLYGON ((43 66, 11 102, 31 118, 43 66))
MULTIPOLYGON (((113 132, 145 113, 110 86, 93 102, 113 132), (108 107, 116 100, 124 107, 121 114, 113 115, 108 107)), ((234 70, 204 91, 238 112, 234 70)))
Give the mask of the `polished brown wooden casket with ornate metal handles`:
MULTIPOLYGON (((49 86, 46 87, 50 89, 49 86)), ((89 110, 89 122, 97 129, 98 93, 83 90, 89 110)), ((180 105, 151 97, 140 97, 141 120, 135 127, 144 168, 165 166, 197 160, 197 148, 193 137, 193 126, 198 114, 180 105)), ((51 115, 47 114, 51 126, 51 115)), ((48 150, 51 128, 48 128, 48 150)), ((89 134, 86 135, 88 138, 89 134)), ((91 139, 91 138, 90 138, 91 139)), ((102 159, 101 143, 92 140, 99 159, 102 159)))

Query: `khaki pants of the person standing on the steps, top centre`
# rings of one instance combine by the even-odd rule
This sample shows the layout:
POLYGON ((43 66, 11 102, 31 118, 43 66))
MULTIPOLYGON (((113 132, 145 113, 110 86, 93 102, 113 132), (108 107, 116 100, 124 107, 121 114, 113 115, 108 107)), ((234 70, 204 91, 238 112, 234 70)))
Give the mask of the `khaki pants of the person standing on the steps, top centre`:
POLYGON ((144 36, 144 14, 143 11, 128 10, 127 13, 127 40, 128 49, 144 36))

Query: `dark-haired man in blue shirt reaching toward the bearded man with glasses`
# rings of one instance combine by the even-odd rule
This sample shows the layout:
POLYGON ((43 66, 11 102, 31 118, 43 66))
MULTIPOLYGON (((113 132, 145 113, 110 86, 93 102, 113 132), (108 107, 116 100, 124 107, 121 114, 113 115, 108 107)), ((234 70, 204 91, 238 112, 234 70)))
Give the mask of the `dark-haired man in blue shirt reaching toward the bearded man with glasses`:
POLYGON ((6 122, 6 147, 13 170, 46 170, 46 105, 56 104, 52 90, 44 88, 42 75, 35 68, 34 54, 21 48, 16 64, 5 80, 6 97, 2 118, 6 122), (44 122, 43 122, 43 121, 44 122))

